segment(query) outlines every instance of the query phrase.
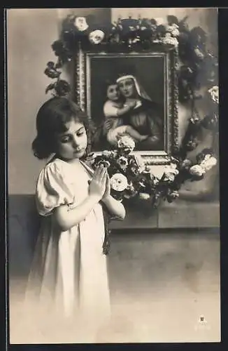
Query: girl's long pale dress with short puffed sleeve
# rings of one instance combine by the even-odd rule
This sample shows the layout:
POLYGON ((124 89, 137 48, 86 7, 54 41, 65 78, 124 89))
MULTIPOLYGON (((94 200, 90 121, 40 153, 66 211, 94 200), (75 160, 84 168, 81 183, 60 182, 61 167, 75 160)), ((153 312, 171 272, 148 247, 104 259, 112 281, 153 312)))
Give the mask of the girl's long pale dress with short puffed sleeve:
POLYGON ((36 204, 43 223, 25 298, 43 316, 73 318, 84 326, 98 326, 110 315, 103 209, 96 204, 85 220, 66 232, 57 229, 52 211, 83 202, 92 172, 82 161, 55 159, 38 176, 36 204))

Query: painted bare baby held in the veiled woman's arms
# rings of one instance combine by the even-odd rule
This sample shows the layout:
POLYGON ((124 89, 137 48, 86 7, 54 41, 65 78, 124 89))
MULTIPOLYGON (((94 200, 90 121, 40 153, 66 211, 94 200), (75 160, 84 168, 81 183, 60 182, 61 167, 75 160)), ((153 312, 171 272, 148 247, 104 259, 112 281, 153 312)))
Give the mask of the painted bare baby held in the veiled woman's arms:
POLYGON ((116 83, 108 84, 107 98, 108 100, 104 103, 106 117, 104 128, 106 128, 107 140, 111 145, 116 147, 119 138, 126 134, 134 138, 136 142, 148 138, 148 135, 141 135, 133 127, 123 124, 121 116, 134 109, 136 102, 124 103, 116 83))

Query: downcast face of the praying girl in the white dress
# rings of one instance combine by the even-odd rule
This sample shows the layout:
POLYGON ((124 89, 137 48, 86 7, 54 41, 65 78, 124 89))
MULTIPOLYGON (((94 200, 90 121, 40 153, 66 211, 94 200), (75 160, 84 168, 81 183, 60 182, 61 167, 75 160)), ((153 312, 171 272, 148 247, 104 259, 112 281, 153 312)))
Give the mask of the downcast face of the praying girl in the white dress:
POLYGON ((80 159, 87 147, 85 126, 72 119, 66 123, 66 128, 66 132, 57 135, 57 154, 67 161, 80 159))

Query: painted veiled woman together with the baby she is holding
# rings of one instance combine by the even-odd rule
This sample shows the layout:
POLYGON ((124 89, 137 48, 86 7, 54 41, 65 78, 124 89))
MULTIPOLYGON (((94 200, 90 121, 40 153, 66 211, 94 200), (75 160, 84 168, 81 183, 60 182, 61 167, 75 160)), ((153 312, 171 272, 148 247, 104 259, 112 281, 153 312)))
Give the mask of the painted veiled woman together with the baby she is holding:
POLYGON ((164 104, 152 100, 136 74, 117 74, 104 91, 93 150, 116 149, 122 135, 134 139, 136 151, 164 150, 164 104))

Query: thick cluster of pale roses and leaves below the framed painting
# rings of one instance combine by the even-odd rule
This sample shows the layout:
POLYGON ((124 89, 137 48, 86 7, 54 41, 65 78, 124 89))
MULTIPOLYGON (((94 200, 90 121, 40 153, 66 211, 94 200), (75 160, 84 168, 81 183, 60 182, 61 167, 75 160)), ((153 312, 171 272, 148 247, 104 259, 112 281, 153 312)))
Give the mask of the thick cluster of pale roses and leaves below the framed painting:
POLYGON ((201 180, 206 171, 217 163, 213 151, 205 149, 197 155, 197 163, 188 159, 171 157, 170 164, 164 166, 161 178, 152 173, 150 166, 145 166, 142 157, 134 154, 134 140, 124 135, 118 141, 117 150, 105 150, 101 154, 91 153, 87 160, 92 168, 104 164, 111 181, 111 194, 119 200, 129 202, 141 199, 157 208, 161 200, 171 203, 178 198, 178 190, 185 180, 201 180))

